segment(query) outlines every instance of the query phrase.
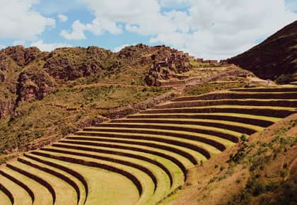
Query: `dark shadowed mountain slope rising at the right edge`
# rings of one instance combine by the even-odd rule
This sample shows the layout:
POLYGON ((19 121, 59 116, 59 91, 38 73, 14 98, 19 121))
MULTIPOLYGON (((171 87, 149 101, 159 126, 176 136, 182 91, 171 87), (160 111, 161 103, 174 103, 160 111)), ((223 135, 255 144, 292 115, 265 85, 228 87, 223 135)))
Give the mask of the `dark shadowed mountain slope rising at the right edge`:
POLYGON ((227 59, 260 78, 292 78, 297 73, 297 21, 286 25, 252 49, 227 59), (295 75, 294 75, 295 74, 295 75))

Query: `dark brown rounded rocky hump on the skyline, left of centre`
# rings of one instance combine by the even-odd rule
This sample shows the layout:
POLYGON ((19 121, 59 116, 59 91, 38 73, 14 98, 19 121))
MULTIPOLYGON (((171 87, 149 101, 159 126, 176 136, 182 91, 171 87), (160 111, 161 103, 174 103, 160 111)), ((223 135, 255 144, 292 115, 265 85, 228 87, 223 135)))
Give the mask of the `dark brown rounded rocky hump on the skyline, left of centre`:
POLYGON ((59 81, 74 81, 120 66, 115 54, 99 47, 60 48, 45 59, 43 69, 59 81))

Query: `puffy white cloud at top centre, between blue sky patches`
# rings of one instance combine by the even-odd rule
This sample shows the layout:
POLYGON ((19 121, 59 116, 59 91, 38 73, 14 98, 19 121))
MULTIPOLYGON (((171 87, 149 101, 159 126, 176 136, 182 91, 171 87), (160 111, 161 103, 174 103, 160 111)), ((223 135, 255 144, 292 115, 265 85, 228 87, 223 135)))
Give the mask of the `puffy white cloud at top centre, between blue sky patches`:
POLYGON ((161 12, 161 6, 156 0, 81 0, 95 15, 91 23, 81 24, 79 28, 72 25, 71 32, 62 30, 61 35, 66 39, 79 40, 85 37, 88 31, 95 35, 105 33, 120 34, 123 28, 119 23, 125 24, 125 29, 140 35, 156 35, 158 33, 173 33, 177 30, 187 31, 187 13, 180 11, 161 12), (77 34, 80 35, 77 35, 77 34), (81 35, 83 33, 83 35, 81 35), (73 37, 73 36, 77 37, 73 37))

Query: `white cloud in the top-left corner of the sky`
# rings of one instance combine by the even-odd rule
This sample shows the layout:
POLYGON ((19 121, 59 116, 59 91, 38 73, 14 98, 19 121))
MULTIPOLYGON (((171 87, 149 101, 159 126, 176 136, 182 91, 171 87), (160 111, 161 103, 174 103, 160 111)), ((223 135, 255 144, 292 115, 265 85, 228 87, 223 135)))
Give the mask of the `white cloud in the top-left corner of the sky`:
POLYGON ((46 28, 54 28, 53 18, 46 18, 33 10, 37 0, 0 1, 0 37, 34 40, 46 28))

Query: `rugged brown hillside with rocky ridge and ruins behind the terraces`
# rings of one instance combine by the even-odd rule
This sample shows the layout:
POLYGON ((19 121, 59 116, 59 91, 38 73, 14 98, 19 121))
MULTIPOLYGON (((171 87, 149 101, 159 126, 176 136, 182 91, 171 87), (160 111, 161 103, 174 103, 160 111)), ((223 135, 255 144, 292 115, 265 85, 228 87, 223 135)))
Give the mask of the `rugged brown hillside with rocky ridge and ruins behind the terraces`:
MULTIPOLYGON (((123 117, 170 100, 186 84, 246 71, 197 63, 165 46, 120 52, 99 47, 8 47, 0 51, 0 163, 96 122, 123 117)), ((241 84, 243 86, 243 83, 241 84)))

